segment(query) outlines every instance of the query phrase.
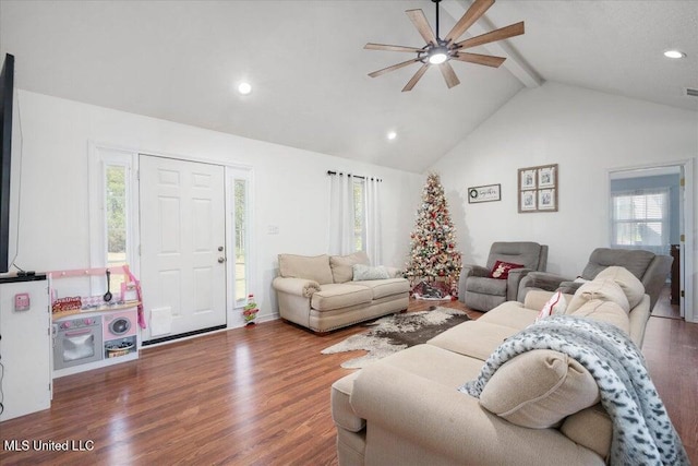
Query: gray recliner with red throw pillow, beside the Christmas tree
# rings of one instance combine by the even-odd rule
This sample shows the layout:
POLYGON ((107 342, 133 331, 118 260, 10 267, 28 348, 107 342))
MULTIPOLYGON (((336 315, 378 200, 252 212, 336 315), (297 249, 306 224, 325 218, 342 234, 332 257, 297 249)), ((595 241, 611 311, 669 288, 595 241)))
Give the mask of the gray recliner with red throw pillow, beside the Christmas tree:
POLYGON ((519 283, 533 271, 545 271, 547 246, 532 241, 492 243, 486 266, 464 265, 458 280, 458 299, 468 308, 486 312, 505 301, 515 301, 519 283), (497 261, 524 265, 508 271, 506 279, 492 278, 497 261))

